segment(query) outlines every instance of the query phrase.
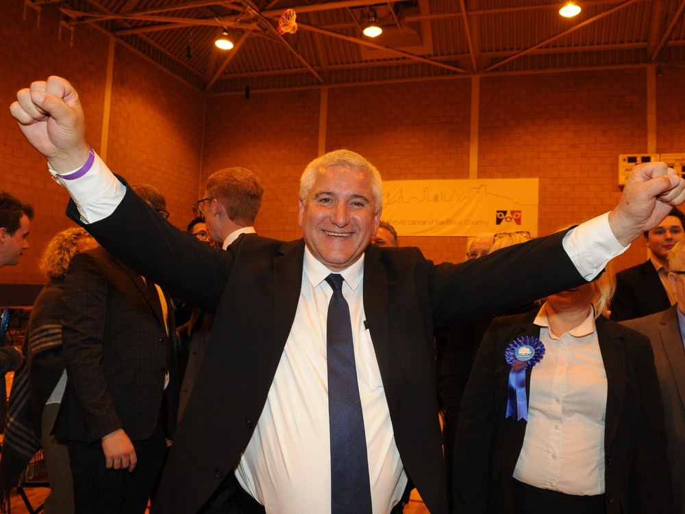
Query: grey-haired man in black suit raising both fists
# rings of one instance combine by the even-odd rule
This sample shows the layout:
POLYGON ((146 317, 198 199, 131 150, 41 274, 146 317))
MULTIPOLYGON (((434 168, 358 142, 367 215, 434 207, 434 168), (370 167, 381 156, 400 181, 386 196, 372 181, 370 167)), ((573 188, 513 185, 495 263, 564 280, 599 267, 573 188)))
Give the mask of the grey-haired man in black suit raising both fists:
POLYGON ((196 512, 234 467, 240 487, 266 511, 338 513, 331 498, 345 484, 332 483, 329 467, 326 313, 340 291, 368 452, 356 470, 373 484, 371 505, 356 509, 360 495, 349 493, 347 512, 389 512, 410 477, 429 511, 446 513, 433 327, 594 278, 685 199, 685 182, 651 163, 634 171, 609 215, 493 256, 434 265, 415 248, 369 246, 382 183, 373 165, 343 150, 312 161, 302 175, 303 240, 242 236, 216 252, 184 243, 187 234, 146 212, 106 169, 86 145, 69 82, 34 82, 11 109, 53 176, 69 186, 77 201, 71 217, 134 269, 218 314, 184 414, 194 422, 177 431, 153 508, 159 513, 196 512), (108 194, 91 203, 93 188, 108 194), (323 282, 336 275, 344 283, 334 293, 323 282))

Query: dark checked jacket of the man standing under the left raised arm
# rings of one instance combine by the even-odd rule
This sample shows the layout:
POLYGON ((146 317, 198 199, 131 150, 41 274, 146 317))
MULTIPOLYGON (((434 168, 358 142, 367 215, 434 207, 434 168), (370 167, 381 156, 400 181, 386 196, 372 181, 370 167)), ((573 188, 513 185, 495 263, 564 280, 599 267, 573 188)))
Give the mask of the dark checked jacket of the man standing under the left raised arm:
MULTIPOLYGON (((139 273, 97 248, 71 260, 64 303, 62 356, 69 380, 55 432, 92 443, 123 428, 132 441, 148 439, 160 416, 166 374, 159 297, 139 273)), ((169 333, 175 333, 173 325, 169 333)), ((171 361, 164 395, 169 436, 178 397, 175 358, 171 361)))

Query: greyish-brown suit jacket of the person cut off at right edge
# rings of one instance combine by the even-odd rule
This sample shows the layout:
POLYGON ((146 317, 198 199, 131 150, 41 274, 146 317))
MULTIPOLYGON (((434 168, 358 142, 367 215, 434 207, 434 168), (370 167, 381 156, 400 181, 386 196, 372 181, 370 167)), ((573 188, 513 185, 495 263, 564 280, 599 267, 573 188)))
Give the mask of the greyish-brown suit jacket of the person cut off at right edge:
POLYGON ((669 461, 673 475, 675 512, 685 513, 685 347, 683 347, 677 306, 662 313, 624 321, 642 332, 651 342, 654 364, 664 398, 669 461))

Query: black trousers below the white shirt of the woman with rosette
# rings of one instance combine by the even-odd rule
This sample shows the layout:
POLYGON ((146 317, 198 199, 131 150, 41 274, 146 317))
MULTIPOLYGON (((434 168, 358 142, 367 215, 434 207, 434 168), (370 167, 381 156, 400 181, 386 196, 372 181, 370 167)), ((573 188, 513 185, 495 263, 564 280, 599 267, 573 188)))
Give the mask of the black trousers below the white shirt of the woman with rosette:
POLYGON ((605 514, 604 495, 575 496, 514 480, 512 514, 605 514))

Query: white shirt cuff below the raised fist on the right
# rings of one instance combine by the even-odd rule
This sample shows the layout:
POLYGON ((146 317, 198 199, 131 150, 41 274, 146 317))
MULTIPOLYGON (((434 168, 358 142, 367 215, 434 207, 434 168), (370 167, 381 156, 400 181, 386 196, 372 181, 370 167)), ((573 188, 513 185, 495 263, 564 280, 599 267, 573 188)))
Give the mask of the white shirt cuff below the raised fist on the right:
POLYGON ((564 236, 563 245, 585 280, 593 280, 612 258, 630 247, 621 245, 614 237, 608 212, 570 230, 564 236))

